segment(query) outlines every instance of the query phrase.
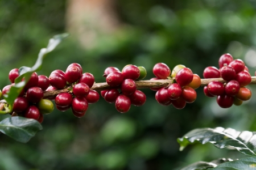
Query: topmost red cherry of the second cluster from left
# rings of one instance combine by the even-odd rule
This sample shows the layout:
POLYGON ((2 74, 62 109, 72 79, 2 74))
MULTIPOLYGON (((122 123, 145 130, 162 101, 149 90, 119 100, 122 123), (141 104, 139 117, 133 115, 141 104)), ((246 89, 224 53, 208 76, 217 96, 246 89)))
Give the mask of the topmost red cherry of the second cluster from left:
POLYGON ((68 83, 75 83, 77 80, 80 79, 81 70, 77 66, 68 67, 65 72, 65 79, 68 83))

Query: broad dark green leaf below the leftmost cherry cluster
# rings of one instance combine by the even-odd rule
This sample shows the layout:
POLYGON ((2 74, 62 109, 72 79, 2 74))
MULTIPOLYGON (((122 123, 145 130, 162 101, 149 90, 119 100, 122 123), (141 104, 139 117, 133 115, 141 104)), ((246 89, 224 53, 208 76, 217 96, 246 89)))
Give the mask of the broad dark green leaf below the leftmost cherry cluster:
POLYGON ((0 131, 3 134, 23 143, 28 142, 42 129, 38 121, 20 116, 5 118, 0 122, 0 131))

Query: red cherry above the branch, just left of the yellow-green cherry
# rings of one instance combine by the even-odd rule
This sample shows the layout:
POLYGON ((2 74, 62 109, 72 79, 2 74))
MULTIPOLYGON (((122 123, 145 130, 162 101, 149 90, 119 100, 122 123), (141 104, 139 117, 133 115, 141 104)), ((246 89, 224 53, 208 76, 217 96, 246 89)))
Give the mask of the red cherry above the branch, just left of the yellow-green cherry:
POLYGON ((171 70, 165 63, 156 63, 153 67, 153 73, 159 79, 167 79, 167 76, 171 74, 171 70))

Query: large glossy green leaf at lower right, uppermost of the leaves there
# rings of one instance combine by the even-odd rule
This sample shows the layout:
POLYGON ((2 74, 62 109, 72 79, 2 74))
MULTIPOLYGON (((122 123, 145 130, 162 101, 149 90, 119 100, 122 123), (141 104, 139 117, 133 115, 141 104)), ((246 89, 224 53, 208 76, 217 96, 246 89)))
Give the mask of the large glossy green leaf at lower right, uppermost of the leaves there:
POLYGON ((180 151, 187 145, 200 142, 202 144, 212 143, 217 148, 233 147, 245 155, 255 156, 256 151, 256 132, 236 131, 228 128, 201 128, 194 129, 185 134, 182 138, 178 138, 180 151))

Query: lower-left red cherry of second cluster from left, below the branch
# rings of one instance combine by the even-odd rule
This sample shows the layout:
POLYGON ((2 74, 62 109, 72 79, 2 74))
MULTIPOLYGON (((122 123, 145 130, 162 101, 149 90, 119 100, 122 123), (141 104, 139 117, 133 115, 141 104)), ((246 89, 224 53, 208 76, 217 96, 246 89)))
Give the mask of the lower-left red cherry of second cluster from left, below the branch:
POLYGON ((73 97, 68 92, 63 92, 55 97, 55 104, 58 107, 69 107, 72 104, 73 97))

